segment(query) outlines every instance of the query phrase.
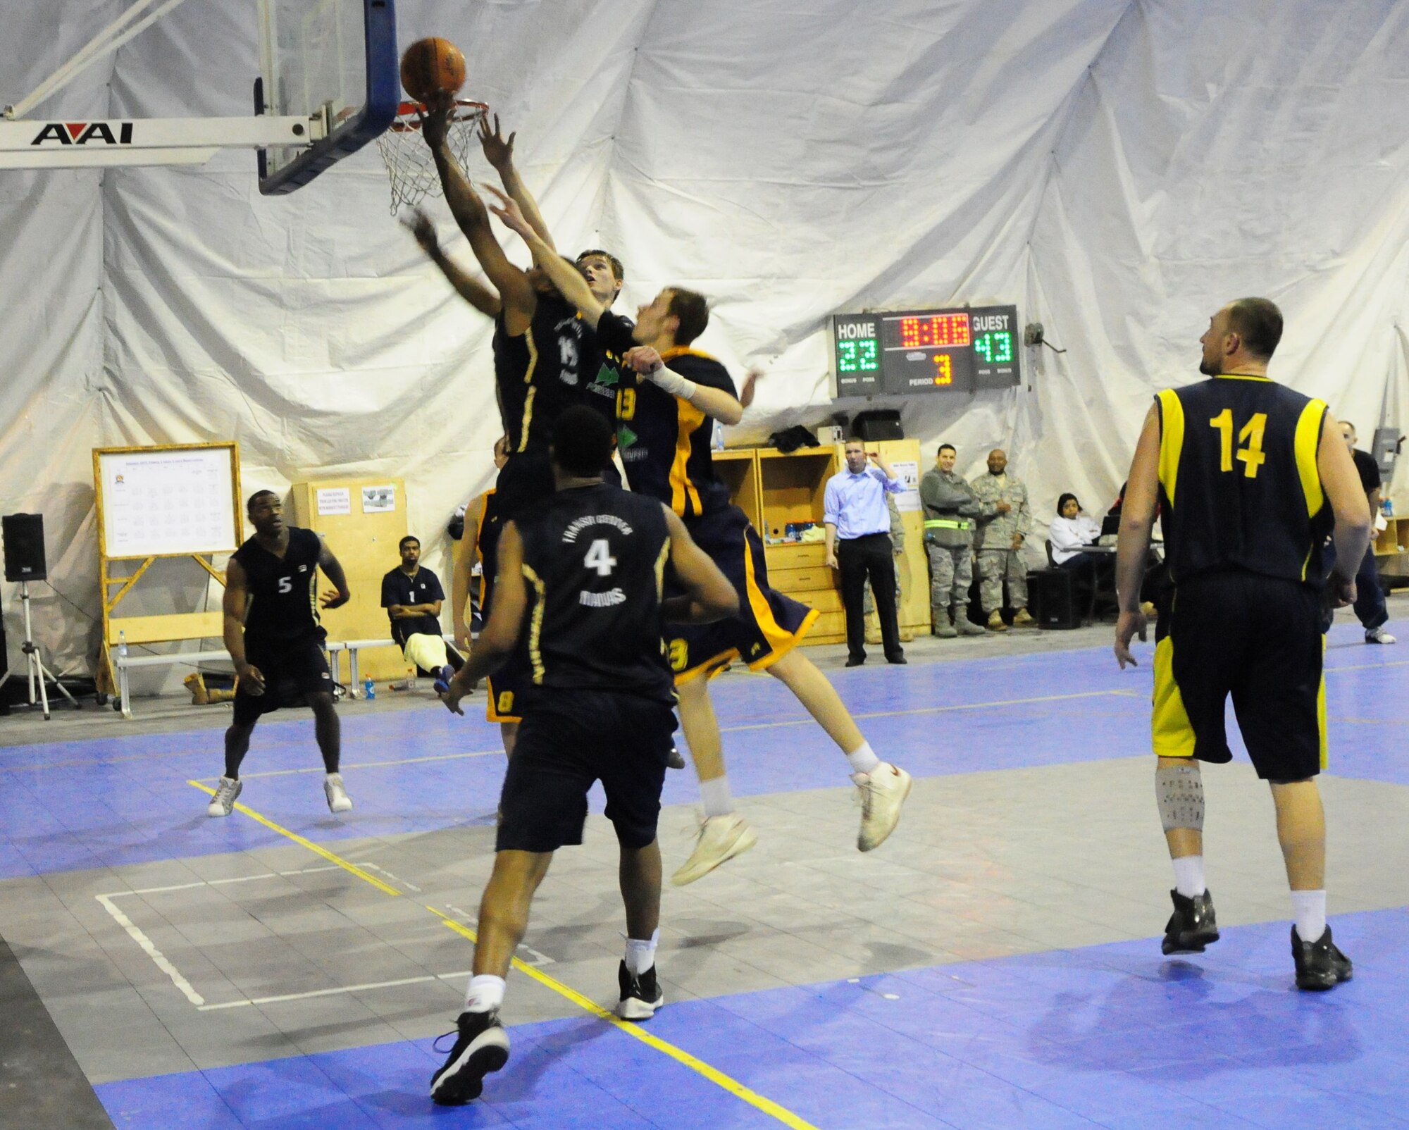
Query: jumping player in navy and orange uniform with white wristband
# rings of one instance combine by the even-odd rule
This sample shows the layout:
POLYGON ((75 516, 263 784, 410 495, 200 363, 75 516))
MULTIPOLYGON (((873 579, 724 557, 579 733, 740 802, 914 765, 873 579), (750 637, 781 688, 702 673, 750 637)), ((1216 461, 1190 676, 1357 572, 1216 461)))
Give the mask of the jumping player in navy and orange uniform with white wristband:
POLYGON ((617 447, 631 489, 679 514, 740 595, 738 616, 683 628, 671 640, 681 726, 700 778, 706 817, 695 851, 671 881, 693 882, 757 843, 734 810, 709 699, 709 678, 737 658, 776 676, 847 755, 862 802, 857 847, 879 847, 900 820, 910 775, 876 757, 827 676, 796 650, 817 613, 768 586, 762 541, 714 472, 713 423, 737 424, 744 409, 724 366, 690 348, 709 323, 703 296, 665 287, 637 311, 633 325, 558 262, 514 201, 500 194, 495 214, 524 238, 534 262, 596 325, 603 354, 620 356, 635 373, 635 383, 623 383, 617 393, 617 447))

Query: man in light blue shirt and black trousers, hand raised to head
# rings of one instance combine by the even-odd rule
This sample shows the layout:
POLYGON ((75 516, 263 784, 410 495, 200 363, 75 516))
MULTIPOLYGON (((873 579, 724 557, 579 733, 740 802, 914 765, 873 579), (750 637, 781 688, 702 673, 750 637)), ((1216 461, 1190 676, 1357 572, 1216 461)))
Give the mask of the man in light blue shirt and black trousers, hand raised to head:
POLYGON ((895 614, 895 559, 890 548, 888 493, 905 483, 879 454, 867 454, 859 440, 847 440, 847 469, 827 480, 823 521, 827 524, 827 564, 841 571, 841 603, 847 609, 847 666, 867 661, 867 578, 881 616, 885 658, 903 664, 900 627, 895 614), (867 466, 867 459, 875 466, 867 466))

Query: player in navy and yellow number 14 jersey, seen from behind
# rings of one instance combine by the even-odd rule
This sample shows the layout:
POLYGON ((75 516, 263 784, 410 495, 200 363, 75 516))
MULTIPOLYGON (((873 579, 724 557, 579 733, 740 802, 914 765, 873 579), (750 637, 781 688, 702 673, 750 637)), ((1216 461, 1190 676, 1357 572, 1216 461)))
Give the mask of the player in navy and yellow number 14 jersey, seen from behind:
POLYGON ((1203 878, 1199 762, 1231 759, 1224 703, 1257 775, 1272 789, 1292 888, 1296 986, 1330 989, 1351 964, 1326 924, 1326 768, 1320 551, 1334 523, 1330 603, 1354 600, 1370 507, 1324 402, 1268 379, 1282 314, 1239 299, 1209 320, 1199 371, 1209 380, 1165 389, 1146 416, 1120 516, 1116 658, 1144 638, 1140 582, 1155 509, 1172 597, 1155 626, 1155 796, 1174 859, 1165 954, 1217 941, 1203 878))

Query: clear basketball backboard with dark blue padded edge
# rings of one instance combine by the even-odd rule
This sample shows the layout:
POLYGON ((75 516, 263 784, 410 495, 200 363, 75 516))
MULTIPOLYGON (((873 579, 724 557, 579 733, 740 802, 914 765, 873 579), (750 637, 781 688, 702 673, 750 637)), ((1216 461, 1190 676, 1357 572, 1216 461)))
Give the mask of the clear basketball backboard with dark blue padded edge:
POLYGON ((259 151, 259 192, 293 192, 382 134, 402 100, 395 0, 259 0, 255 113, 321 116, 311 147, 259 151))

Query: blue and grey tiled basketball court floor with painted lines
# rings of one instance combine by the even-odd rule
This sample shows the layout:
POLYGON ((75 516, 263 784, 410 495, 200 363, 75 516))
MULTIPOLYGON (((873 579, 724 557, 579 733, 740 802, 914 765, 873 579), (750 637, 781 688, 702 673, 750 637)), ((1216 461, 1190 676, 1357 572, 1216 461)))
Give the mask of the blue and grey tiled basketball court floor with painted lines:
MULTIPOLYGON (((0 748, 0 936, 124 1130, 1409 1124, 1409 648, 1365 647, 1351 626, 1330 638, 1330 909, 1355 979, 1324 995, 1292 988, 1271 805, 1240 747, 1206 772, 1223 938, 1160 954, 1151 651, 1126 672, 1106 644, 828 671, 881 757, 917 781, 865 857, 826 735, 775 679, 723 676, 734 793, 768 834, 666 899, 655 1043, 572 1003, 610 1006, 620 944, 613 848, 593 831, 535 906, 526 941, 544 976, 510 975, 510 1062, 462 1109, 428 1102, 442 1057, 424 1036, 452 1026, 468 968, 457 933, 472 920, 444 890, 473 906, 488 871, 503 755, 482 697, 468 719, 347 704, 356 809, 337 819, 302 712, 255 731, 241 802, 259 819, 204 816, 218 728, 108 724, 0 748), (454 874, 437 872, 451 854, 454 874), (254 895, 244 881, 271 868, 297 878, 254 895), (206 902, 172 909, 152 893, 166 890, 206 902), (269 974, 251 957, 263 950, 241 967, 237 941, 307 968, 269 974), (152 950, 189 978, 185 998, 152 950)), ((688 851, 696 797, 689 771, 671 774, 668 854, 688 851)))

